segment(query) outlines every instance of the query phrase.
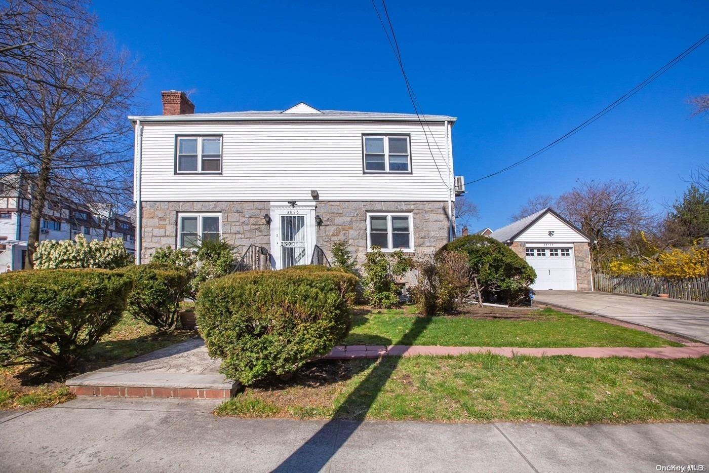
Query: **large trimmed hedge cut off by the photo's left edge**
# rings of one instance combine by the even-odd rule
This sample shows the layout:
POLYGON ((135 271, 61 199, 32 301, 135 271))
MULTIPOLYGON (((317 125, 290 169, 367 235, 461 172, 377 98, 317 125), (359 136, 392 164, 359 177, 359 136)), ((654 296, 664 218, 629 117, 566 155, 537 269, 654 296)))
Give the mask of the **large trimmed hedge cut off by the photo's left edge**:
POLYGON ((0 274, 0 362, 66 372, 118 323, 131 285, 107 269, 0 274))

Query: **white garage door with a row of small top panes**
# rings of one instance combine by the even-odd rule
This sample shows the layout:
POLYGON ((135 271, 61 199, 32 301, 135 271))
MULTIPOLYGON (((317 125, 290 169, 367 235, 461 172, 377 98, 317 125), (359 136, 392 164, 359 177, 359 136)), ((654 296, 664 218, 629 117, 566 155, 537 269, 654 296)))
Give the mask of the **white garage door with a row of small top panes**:
POLYGON ((527 262, 537 272, 532 289, 576 289, 574 248, 527 247, 526 254, 527 262))

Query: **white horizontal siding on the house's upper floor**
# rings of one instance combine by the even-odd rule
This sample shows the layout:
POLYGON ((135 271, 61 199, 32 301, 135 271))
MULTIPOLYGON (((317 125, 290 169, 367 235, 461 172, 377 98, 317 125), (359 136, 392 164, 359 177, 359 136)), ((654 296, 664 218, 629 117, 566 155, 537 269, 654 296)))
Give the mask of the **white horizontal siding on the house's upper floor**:
MULTIPOLYGON (((442 201, 443 123, 143 123, 143 201, 442 201), (430 127, 432 135, 429 133, 430 127), (411 173, 362 172, 362 135, 411 135, 411 173), (222 135, 221 174, 175 174, 175 136, 222 135)), ((450 178, 452 179, 452 178, 450 178)))

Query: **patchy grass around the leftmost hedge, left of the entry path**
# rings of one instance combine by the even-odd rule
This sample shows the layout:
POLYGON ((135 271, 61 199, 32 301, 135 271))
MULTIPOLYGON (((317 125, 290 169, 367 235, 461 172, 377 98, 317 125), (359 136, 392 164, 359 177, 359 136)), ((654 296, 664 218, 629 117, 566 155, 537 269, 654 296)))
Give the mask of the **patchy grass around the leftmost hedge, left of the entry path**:
MULTIPOLYGON (((113 365, 191 336, 194 332, 186 330, 158 332, 151 325, 123 316, 113 330, 86 353, 82 368, 89 371, 113 365)), ((48 407, 74 398, 62 379, 35 379, 28 376, 26 368, 22 365, 0 368, 0 410, 48 407)))

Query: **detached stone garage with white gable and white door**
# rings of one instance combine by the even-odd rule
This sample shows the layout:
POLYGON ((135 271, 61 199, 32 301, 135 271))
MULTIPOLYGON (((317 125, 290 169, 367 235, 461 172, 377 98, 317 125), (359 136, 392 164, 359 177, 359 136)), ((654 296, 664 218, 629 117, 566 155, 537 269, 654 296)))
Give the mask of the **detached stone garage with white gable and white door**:
POLYGON ((552 208, 495 230, 490 237, 535 269, 535 291, 593 291, 591 239, 552 208))

